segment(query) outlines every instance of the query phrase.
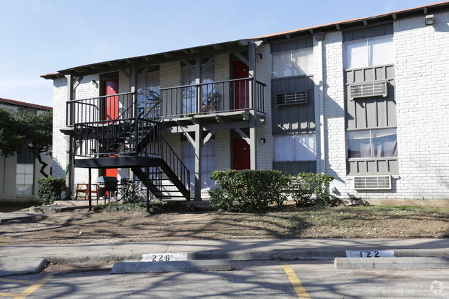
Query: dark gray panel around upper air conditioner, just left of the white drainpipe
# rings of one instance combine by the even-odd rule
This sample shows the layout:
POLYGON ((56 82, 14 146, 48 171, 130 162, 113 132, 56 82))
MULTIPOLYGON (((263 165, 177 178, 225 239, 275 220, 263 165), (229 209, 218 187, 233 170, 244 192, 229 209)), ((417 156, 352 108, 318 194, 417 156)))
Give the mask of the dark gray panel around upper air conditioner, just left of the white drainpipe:
POLYGON ((273 135, 314 133, 316 124, 312 77, 271 79, 271 115, 273 135), (307 104, 276 105, 276 94, 300 90, 306 90, 307 104))

